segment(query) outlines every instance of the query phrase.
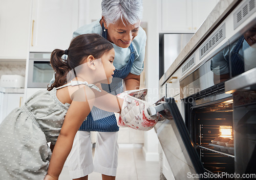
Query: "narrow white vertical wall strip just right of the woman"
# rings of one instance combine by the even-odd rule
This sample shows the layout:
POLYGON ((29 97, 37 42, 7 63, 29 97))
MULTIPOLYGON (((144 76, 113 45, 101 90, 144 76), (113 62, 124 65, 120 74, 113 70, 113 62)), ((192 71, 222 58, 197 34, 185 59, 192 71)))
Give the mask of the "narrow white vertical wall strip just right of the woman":
MULTIPOLYGON (((147 45, 145 80, 148 88, 147 101, 153 104, 158 100, 159 84, 159 37, 158 37, 158 2, 157 0, 143 1, 143 22, 147 23, 147 45)), ((155 130, 144 134, 143 154, 146 161, 158 161, 159 141, 155 130)))

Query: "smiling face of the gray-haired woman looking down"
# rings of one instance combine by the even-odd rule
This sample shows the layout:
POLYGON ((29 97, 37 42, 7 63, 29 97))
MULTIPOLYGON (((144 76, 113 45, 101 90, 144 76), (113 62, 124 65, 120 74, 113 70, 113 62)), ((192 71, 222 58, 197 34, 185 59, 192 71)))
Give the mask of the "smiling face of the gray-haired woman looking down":
MULTIPOLYGON (((102 19, 103 18, 104 17, 102 17, 102 19)), ((139 34, 139 27, 140 20, 135 24, 124 24, 123 21, 119 19, 115 24, 109 24, 105 29, 108 30, 108 40, 110 42, 119 47, 126 48, 130 46, 131 42, 139 34)))

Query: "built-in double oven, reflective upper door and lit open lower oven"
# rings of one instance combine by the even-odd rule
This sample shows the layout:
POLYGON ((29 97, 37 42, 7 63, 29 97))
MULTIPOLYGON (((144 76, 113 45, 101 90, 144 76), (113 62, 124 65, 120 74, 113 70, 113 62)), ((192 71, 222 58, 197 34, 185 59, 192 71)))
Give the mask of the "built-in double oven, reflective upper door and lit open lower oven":
POLYGON ((200 161, 223 179, 256 178, 255 55, 256 18, 180 81, 200 161))

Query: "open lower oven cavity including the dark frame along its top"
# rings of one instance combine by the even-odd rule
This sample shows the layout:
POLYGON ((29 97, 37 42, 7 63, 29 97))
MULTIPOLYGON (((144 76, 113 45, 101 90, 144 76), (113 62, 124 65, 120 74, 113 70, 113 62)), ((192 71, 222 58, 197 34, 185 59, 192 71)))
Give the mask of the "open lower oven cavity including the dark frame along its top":
POLYGON ((204 169, 211 174, 234 174, 233 99, 223 85, 184 99, 188 101, 186 127, 204 169))

